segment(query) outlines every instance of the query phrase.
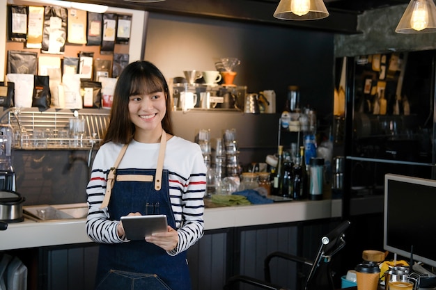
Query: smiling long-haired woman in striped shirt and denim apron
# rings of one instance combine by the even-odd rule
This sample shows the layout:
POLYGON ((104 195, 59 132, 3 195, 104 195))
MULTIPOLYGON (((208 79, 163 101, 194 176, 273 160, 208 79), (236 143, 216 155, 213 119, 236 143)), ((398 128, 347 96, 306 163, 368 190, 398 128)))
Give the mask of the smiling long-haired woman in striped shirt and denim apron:
POLYGON ((170 102, 152 63, 137 61, 121 72, 86 190, 88 236, 100 243, 97 289, 131 289, 120 275, 126 271, 135 287, 191 289, 187 249, 204 232, 206 168, 198 144, 172 135, 170 102), (151 215, 166 216, 166 230, 130 241, 125 216, 151 215))

